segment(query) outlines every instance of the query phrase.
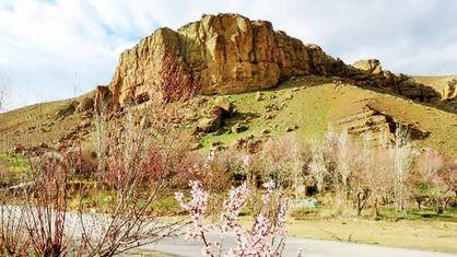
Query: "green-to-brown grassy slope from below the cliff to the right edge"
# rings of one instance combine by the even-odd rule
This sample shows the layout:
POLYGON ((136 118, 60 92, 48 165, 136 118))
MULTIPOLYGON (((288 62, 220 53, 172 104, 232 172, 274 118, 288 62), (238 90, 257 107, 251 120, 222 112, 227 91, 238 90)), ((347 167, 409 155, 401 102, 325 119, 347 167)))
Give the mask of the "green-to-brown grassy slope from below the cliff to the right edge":
MULTIPOLYGON (((455 114, 410 100, 378 93, 370 89, 351 85, 336 86, 329 79, 320 77, 298 77, 285 81, 280 86, 260 92, 228 95, 236 114, 224 120, 215 132, 206 135, 201 144, 208 148, 218 141, 228 145, 242 138, 255 136, 280 137, 288 129, 304 140, 321 138, 336 118, 356 113, 353 103, 370 100, 370 105, 394 122, 409 124, 427 136, 413 138, 418 149, 433 148, 449 156, 457 155, 457 135, 455 114), (432 121, 431 121, 432 120, 432 121), (233 133, 232 126, 243 124, 246 131, 233 133)), ((210 102, 214 96, 206 96, 210 102)))

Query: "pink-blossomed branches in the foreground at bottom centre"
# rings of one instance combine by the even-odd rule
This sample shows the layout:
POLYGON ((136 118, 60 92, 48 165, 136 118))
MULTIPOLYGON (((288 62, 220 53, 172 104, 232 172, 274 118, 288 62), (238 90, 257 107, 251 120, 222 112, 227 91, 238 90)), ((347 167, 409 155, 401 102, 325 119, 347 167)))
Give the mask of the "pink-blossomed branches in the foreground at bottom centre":
POLYGON ((177 192, 176 198, 180 206, 190 212, 194 222, 194 227, 187 233, 187 238, 189 241, 200 238, 203 242, 202 254, 204 256, 282 256, 288 235, 285 217, 289 199, 283 192, 274 190, 274 183, 265 184, 267 192, 262 200, 270 207, 267 208, 269 211, 258 214, 249 229, 243 227, 238 221, 239 212, 246 207, 246 199, 249 196, 246 183, 230 190, 228 199, 223 205, 221 224, 204 222, 209 194, 201 188, 199 182, 190 182, 189 186, 192 197, 190 201, 185 202, 181 192, 177 192), (271 209, 271 207, 274 208, 271 209), (211 231, 219 231, 220 238, 210 241, 208 233, 211 231), (223 243, 231 231, 235 232, 236 246, 224 253, 223 243))

